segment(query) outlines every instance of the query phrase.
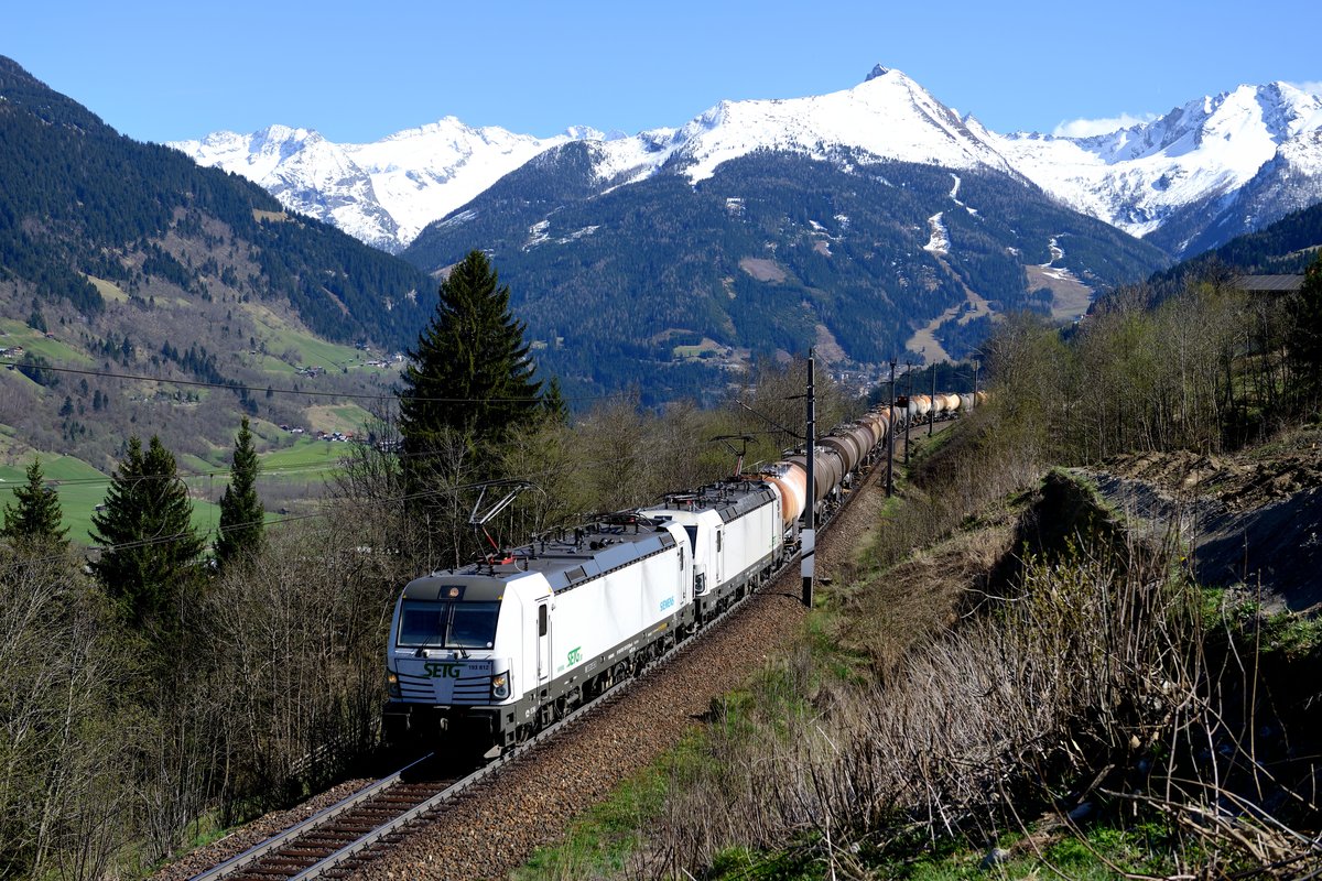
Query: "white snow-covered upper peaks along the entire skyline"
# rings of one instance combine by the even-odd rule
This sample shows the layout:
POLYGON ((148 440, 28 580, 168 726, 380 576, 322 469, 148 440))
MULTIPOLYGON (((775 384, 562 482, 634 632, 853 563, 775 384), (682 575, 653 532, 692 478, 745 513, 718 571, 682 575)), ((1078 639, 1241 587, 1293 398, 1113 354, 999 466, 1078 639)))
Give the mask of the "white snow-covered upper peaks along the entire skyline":
POLYGON ((853 88, 720 102, 678 128, 633 136, 576 128, 538 139, 447 118, 374 144, 337 145, 313 131, 275 125, 172 145, 389 251, 401 251, 427 223, 530 159, 582 140, 603 190, 662 168, 698 184, 723 162, 760 151, 846 164, 988 169, 1031 181, 1064 205, 1178 256, 1225 240, 1204 231, 1225 230, 1228 238, 1322 199, 1319 131, 1322 98, 1270 83, 1200 98, 1109 135, 997 135, 903 73, 876 66, 853 88))

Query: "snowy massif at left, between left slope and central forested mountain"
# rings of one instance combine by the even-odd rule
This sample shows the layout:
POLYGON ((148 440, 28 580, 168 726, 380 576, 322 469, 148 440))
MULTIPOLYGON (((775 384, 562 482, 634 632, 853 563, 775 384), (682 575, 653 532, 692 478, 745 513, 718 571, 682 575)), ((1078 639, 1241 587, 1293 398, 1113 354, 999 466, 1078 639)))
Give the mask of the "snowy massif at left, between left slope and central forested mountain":
POLYGON ((574 128, 539 139, 497 127, 471 128, 447 116, 371 144, 334 144, 312 129, 271 125, 169 147, 201 165, 247 177, 290 209, 397 252, 427 223, 538 153, 582 137, 604 136, 574 128))

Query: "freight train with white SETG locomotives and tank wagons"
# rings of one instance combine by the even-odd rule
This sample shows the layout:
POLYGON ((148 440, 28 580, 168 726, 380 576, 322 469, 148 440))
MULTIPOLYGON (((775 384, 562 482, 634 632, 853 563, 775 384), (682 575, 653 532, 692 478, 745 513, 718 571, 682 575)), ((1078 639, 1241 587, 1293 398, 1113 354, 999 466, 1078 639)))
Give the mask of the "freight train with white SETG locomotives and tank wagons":
POLYGON ((820 437, 812 487, 800 453, 410 581, 390 625, 385 740, 526 741, 767 582, 806 506, 829 514, 892 428, 961 404, 973 399, 902 399, 820 437))

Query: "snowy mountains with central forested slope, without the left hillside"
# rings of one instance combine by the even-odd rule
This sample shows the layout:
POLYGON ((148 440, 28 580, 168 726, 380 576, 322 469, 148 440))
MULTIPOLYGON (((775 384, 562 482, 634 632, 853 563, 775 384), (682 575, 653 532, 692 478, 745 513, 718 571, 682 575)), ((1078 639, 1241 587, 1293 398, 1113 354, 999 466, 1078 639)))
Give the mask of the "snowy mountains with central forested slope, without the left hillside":
POLYGON ((1319 129, 1318 96, 1270 83, 1104 136, 999 135, 876 66, 632 136, 447 119, 370 145, 176 147, 432 275, 486 251, 571 394, 661 402, 809 346, 866 383, 972 351, 1010 310, 1077 317, 1322 198, 1319 129))

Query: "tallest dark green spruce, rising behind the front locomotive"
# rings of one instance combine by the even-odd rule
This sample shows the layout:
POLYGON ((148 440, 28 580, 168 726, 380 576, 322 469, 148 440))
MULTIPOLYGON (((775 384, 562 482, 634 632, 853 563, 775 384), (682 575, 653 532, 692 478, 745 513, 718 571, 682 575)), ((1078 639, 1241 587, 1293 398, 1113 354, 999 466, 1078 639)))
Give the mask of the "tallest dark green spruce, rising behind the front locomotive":
POLYGON ((440 302, 408 353, 399 395, 406 474, 424 479, 443 439, 460 433, 476 448, 498 442, 538 408, 541 383, 486 255, 472 251, 440 285, 440 302))

